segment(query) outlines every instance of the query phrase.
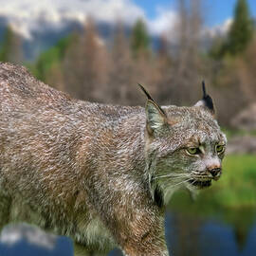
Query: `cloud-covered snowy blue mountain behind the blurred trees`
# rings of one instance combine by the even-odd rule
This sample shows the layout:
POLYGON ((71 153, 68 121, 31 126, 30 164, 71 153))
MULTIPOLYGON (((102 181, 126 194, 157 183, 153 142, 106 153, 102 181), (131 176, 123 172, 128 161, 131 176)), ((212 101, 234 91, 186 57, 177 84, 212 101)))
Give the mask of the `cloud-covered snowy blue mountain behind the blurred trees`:
MULTIPOLYGON (((111 37, 117 21, 121 21, 129 33, 141 18, 149 27, 154 48, 159 44, 159 35, 163 31, 170 33, 176 20, 173 9, 158 9, 158 16, 149 20, 132 0, 0 0, 0 5, 0 41, 6 27, 11 27, 23 39, 27 61, 35 60, 72 31, 80 31, 88 17, 94 18, 104 40, 111 37)), ((230 21, 203 31, 207 45, 215 36, 225 34, 229 25, 230 21)), ((174 34, 170 34, 174 40, 174 34)))

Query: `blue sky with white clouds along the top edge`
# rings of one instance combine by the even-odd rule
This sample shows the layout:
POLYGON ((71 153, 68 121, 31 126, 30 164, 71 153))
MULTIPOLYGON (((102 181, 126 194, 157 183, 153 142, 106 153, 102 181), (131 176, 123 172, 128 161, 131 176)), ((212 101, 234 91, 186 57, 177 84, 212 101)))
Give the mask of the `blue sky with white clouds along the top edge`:
MULTIPOLYGON (((213 31, 214 27, 227 30, 236 0, 202 2, 208 30, 213 31)), ((247 2, 255 17, 256 0, 247 2)), ((84 23, 88 16, 108 23, 119 19, 130 25, 142 18, 151 34, 160 35, 172 29, 176 21, 176 3, 177 0, 0 0, 0 16, 7 17, 12 29, 27 39, 31 38, 32 30, 62 27, 66 20, 84 23)))

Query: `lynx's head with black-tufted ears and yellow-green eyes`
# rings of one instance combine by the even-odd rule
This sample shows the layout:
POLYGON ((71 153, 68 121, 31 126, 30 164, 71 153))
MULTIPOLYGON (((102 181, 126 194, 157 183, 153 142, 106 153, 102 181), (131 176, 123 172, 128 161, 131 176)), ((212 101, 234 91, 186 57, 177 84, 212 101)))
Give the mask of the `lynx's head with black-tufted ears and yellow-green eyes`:
POLYGON ((190 191, 218 180, 227 138, 214 118, 214 106, 203 82, 203 99, 192 107, 146 103, 146 161, 153 195, 166 202, 179 187, 190 191))

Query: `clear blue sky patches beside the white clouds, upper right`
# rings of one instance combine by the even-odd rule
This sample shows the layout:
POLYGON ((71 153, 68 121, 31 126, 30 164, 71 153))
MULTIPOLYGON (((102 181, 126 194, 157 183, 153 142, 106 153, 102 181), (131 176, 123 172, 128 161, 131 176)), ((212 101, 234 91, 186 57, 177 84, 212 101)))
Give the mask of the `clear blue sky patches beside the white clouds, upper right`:
MULTIPOLYGON (((175 9, 175 0, 134 0, 134 3, 144 9, 146 15, 149 19, 154 19, 158 12, 157 9, 175 9)), ((205 21, 206 24, 211 26, 216 26, 222 24, 227 19, 232 17, 233 9, 235 6, 236 0, 205 0, 204 6, 206 9, 205 12, 205 21)), ((247 3, 250 8, 250 13, 255 17, 256 16, 256 1, 247 0, 247 3)))

